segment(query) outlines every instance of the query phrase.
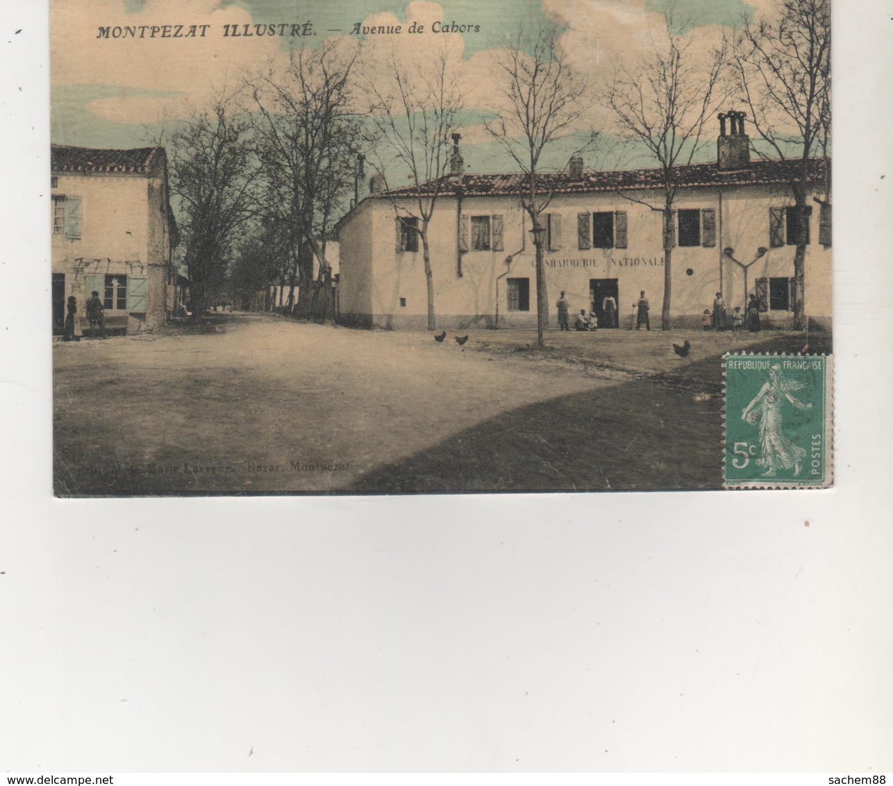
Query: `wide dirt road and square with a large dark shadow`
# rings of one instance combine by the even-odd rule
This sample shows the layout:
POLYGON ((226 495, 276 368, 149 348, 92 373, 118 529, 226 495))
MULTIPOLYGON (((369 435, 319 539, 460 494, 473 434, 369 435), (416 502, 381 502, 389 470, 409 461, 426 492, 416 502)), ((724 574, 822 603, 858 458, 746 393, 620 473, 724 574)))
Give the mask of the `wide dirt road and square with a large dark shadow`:
MULTIPOLYGON (((693 396, 715 394, 714 372, 654 379, 599 364, 591 341, 575 358, 493 337, 460 347, 243 315, 204 334, 57 343, 56 493, 718 485, 722 402, 693 396)), ((666 357, 666 338, 632 354, 653 343, 666 357)))

